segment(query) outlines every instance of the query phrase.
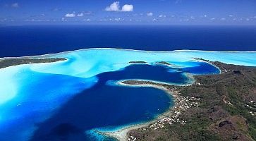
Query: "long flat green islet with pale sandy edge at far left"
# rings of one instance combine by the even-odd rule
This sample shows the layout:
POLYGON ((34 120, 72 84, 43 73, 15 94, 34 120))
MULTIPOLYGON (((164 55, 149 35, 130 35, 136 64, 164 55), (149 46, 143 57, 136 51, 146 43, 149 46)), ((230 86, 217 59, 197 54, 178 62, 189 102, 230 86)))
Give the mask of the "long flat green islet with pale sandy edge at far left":
POLYGON ((22 64, 29 64, 29 63, 51 63, 56 61, 65 61, 64 58, 48 58, 48 59, 0 59, 0 69, 6 68, 9 66, 17 66, 22 64))

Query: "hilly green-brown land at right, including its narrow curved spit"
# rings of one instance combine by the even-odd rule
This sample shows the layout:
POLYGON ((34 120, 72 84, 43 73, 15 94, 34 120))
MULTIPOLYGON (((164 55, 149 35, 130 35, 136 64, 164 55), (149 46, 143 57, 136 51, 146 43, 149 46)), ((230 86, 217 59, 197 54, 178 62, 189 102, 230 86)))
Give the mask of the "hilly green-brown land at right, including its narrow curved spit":
POLYGON ((175 99, 175 106, 160 118, 129 130, 128 140, 256 140, 256 68, 207 62, 221 74, 195 75, 193 85, 120 82, 158 87, 175 99))

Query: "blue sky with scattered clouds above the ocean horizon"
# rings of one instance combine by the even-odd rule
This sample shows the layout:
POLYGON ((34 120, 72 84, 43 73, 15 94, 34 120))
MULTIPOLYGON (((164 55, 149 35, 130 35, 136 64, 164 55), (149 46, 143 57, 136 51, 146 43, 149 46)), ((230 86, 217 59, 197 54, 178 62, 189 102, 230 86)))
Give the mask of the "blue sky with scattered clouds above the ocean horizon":
POLYGON ((256 25, 256 0, 0 0, 0 25, 256 25))

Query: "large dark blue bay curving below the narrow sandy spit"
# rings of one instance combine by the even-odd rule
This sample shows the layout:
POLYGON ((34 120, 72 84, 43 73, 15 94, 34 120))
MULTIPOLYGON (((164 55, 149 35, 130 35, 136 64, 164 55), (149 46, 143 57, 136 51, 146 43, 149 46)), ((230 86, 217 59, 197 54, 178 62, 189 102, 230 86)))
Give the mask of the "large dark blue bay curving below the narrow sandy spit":
POLYGON ((163 91, 149 87, 94 87, 39 124, 32 140, 87 140, 86 130, 149 121, 170 102, 163 91))

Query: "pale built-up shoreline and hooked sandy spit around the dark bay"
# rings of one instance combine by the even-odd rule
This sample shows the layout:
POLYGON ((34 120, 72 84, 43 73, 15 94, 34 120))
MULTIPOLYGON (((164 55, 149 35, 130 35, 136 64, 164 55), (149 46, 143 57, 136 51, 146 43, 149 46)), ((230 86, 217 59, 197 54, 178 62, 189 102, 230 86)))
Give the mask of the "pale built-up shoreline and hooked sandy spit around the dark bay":
MULTIPOLYGON (((127 127, 109 131, 109 132, 102 132, 99 131, 99 133, 102 133, 103 135, 115 137, 117 140, 136 140, 133 136, 129 136, 128 133, 130 130, 135 130, 138 128, 143 128, 143 130, 147 130, 147 128, 154 128, 159 129, 164 127, 164 123, 172 124, 173 122, 178 122, 178 116, 181 114, 181 112, 185 109, 184 103, 185 98, 179 95, 179 92, 176 87, 186 87, 189 85, 171 85, 161 82, 154 82, 154 81, 145 81, 145 80, 119 80, 116 82, 116 85, 122 85, 127 87, 154 87, 159 90, 163 90, 168 94, 169 97, 173 98, 173 106, 170 106, 169 109, 167 109, 163 114, 159 114, 157 118, 155 118, 152 121, 147 121, 145 123, 138 123, 134 125, 128 125, 127 127), (141 84, 128 84, 127 82, 133 81, 133 82, 139 82, 141 84), (171 117, 171 118, 170 118, 171 117)), ((193 85, 193 84, 190 84, 193 85)), ((186 104, 185 104, 186 105, 186 104)), ((185 121, 182 121, 184 123, 185 121)))

